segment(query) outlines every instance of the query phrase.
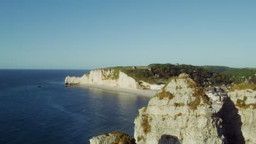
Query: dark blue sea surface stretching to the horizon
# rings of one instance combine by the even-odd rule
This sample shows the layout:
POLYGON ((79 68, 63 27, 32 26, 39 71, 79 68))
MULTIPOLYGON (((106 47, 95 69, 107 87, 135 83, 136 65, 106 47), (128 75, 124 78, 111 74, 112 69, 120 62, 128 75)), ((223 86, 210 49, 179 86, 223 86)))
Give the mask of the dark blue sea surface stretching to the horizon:
POLYGON ((0 143, 90 143, 114 130, 133 136, 138 109, 150 98, 64 87, 67 75, 88 71, 0 70, 0 143))

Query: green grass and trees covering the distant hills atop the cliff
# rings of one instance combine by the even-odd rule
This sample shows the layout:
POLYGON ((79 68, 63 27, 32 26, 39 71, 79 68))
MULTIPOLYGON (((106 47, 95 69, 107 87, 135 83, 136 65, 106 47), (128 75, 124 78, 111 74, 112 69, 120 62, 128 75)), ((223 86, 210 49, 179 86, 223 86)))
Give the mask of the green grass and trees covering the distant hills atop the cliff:
MULTIPOLYGON (((231 83, 241 83, 247 80, 249 83, 256 83, 255 68, 229 68, 223 66, 193 66, 186 64, 149 64, 148 67, 111 67, 115 73, 122 71, 136 81, 145 81, 148 83, 166 83, 168 79, 179 74, 189 74, 199 86, 206 87, 210 85, 230 85, 231 83), (211 84, 210 84, 211 83, 211 84)), ((116 74, 109 76, 115 79, 116 74)), ((119 75, 118 75, 119 76, 119 75)), ((107 77, 106 79, 109 79, 107 77)))

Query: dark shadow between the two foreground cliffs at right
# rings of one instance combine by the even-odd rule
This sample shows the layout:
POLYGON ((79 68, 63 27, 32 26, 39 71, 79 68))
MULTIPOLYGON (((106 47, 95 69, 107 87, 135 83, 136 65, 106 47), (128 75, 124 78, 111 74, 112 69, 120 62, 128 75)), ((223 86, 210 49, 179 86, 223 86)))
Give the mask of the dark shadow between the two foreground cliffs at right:
MULTIPOLYGON (((222 133, 225 141, 229 143, 245 143, 245 138, 242 134, 241 116, 238 115, 238 110, 230 98, 224 100, 222 108, 217 113, 217 116, 222 119, 222 133)), ((225 143, 226 143, 225 142, 225 143)))

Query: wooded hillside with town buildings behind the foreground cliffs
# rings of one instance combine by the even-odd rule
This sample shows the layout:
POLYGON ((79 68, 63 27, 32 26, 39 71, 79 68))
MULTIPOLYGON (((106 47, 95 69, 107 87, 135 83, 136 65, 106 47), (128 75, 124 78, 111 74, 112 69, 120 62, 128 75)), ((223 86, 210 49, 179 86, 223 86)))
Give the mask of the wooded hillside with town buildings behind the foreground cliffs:
POLYGON ((212 103, 222 104, 229 89, 239 83, 256 83, 256 69, 223 66, 193 66, 186 64, 149 64, 147 67, 114 67, 121 69, 135 80, 142 80, 142 89, 159 91, 168 79, 181 73, 190 75, 212 103), (147 83, 148 82, 148 83, 147 83), (149 84, 150 83, 150 84, 149 84), (149 84, 149 86, 146 86, 149 84))

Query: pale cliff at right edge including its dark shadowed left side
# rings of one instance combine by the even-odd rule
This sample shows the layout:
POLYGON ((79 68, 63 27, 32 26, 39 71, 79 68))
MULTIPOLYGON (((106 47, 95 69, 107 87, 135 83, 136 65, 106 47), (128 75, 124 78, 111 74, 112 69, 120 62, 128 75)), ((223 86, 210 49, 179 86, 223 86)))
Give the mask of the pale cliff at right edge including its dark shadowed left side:
POLYGON ((228 143, 256 143, 256 91, 235 89, 228 96, 218 112, 223 135, 228 143))

